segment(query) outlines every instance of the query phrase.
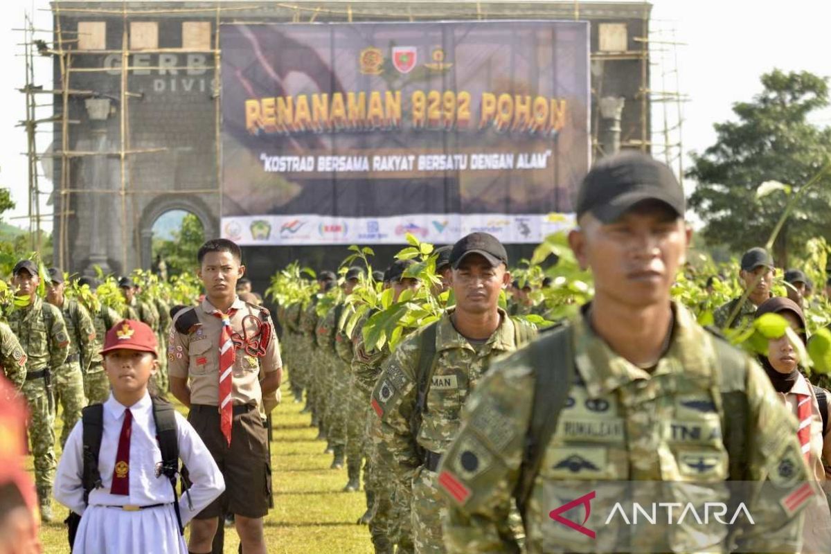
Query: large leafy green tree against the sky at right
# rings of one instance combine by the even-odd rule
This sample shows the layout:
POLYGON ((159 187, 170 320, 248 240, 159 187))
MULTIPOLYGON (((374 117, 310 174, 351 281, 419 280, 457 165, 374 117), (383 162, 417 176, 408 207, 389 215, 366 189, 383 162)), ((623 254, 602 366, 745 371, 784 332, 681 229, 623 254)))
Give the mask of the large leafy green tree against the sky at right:
MULTIPOLYGON (((825 78, 807 71, 774 70, 761 76, 764 91, 733 106, 737 121, 715 124, 717 140, 704 154, 691 154, 687 177, 698 186, 690 207, 706 223, 708 244, 741 252, 763 246, 784 211, 781 190, 758 195, 766 181, 795 194, 829 160, 831 129, 811 125, 808 115, 829 105, 825 78)), ((809 238, 831 239, 831 177, 825 175, 801 195, 774 243, 774 259, 787 267, 789 255, 804 254, 809 238)))

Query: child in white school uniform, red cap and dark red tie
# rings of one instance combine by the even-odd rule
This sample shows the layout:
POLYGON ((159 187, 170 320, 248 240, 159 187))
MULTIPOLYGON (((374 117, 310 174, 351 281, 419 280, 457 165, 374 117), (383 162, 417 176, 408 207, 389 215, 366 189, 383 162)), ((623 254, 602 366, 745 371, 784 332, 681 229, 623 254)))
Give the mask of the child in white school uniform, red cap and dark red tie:
MULTIPOLYGON (((112 391, 103 406, 98 456, 101 483, 85 502, 83 422, 66 441, 58 463, 54 495, 81 514, 73 552, 187 554, 180 532, 224 491, 225 483, 202 439, 175 413, 179 458, 189 470, 189 492, 179 498, 161 472, 154 402, 147 390, 159 368, 155 333, 140 321, 125 320, 106 334, 104 367, 112 391)), ((85 413, 86 417, 86 413, 85 413)))

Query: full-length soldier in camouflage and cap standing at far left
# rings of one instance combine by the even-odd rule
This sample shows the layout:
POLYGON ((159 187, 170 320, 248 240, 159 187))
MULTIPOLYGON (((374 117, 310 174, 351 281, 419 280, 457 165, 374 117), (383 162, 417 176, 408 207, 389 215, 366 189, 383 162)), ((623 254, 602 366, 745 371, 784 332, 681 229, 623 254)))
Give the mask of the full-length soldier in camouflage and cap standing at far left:
POLYGON ((35 465, 37 498, 44 521, 52 521, 52 480, 55 478, 55 419, 52 371, 63 365, 69 352, 69 335, 57 307, 37 297, 37 266, 30 260, 17 262, 12 272, 17 294, 29 297, 28 306, 12 311, 8 326, 26 352, 26 383, 23 395, 29 404, 29 439, 35 465))

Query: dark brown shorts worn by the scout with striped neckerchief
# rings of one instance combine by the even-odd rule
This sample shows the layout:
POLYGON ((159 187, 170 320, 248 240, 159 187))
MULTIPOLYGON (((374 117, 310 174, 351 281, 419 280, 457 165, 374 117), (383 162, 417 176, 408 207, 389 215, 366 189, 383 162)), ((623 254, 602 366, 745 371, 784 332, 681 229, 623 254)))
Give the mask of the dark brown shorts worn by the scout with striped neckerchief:
POLYGON ((255 406, 246 408, 234 406, 229 447, 219 429, 216 406, 194 404, 190 407, 188 421, 214 456, 225 479, 225 492, 199 512, 197 519, 219 517, 224 507, 243 517, 264 517, 268 513, 271 489, 268 432, 258 409, 255 406))

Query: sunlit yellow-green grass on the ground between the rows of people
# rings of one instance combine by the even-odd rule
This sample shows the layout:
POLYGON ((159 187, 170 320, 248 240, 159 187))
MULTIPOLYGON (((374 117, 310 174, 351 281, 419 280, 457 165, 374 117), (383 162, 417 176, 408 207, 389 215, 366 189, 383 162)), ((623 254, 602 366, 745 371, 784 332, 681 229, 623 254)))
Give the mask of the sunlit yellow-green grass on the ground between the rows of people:
MULTIPOLYGON (((268 552, 373 552, 366 527, 356 525, 366 507, 363 492, 342 493, 347 471, 329 469, 332 454, 323 453, 326 444, 315 440, 317 429, 309 426, 309 414, 301 409, 284 383, 283 404, 272 414, 274 508, 265 519, 268 552)), ((31 457, 27 465, 31 470, 31 457)), ((68 553, 62 523, 66 508, 53 502, 52 509, 54 522, 44 524, 41 532, 44 551, 68 553)), ((236 532, 226 528, 225 552, 237 552, 237 547, 236 532)))

